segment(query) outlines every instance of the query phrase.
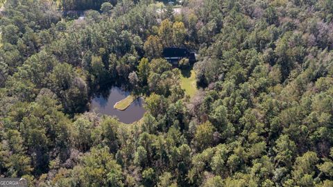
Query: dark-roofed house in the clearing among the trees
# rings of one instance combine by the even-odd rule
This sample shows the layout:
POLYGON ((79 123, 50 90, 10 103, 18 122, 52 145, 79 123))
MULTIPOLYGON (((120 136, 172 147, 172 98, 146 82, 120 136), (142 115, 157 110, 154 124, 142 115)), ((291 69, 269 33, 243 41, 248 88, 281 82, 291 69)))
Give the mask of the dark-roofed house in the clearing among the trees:
POLYGON ((189 63, 196 62, 196 55, 194 52, 189 52, 187 48, 168 47, 163 50, 163 57, 165 60, 173 65, 178 65, 178 62, 183 58, 189 59, 189 63))

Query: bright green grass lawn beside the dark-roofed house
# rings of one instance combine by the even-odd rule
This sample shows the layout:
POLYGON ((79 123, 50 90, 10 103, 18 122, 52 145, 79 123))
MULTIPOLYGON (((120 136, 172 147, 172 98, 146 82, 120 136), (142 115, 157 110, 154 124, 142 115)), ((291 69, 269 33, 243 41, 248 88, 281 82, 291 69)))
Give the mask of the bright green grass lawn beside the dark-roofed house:
POLYGON ((196 72, 193 69, 182 71, 180 86, 185 89, 185 94, 190 98, 196 94, 196 91, 198 91, 196 88, 196 72))

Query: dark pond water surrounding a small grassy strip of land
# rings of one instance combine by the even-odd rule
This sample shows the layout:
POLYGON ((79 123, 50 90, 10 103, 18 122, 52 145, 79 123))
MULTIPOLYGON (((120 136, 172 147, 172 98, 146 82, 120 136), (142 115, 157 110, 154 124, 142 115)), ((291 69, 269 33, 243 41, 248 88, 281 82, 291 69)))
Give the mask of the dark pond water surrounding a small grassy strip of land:
POLYGON ((99 95, 92 99, 91 109, 94 109, 99 114, 116 116, 122 123, 139 121, 144 116, 144 112, 146 112, 143 107, 143 98, 137 98, 126 110, 120 111, 113 108, 115 103, 126 98, 129 94, 129 91, 123 91, 119 87, 112 87, 108 94, 104 94, 107 96, 99 95))

